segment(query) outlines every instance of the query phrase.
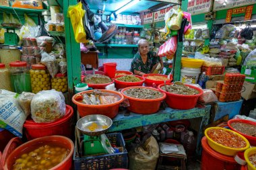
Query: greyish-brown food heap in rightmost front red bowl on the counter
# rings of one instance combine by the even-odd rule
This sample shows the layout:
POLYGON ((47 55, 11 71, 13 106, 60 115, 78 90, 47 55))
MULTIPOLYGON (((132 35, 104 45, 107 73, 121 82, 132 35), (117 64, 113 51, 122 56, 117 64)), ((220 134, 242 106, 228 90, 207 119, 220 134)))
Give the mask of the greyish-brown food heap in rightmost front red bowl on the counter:
POLYGON ((178 95, 196 95, 199 93, 196 89, 185 86, 182 83, 174 83, 173 85, 164 85, 161 87, 162 90, 169 93, 174 93, 178 95), (166 90, 167 89, 167 90, 166 90))

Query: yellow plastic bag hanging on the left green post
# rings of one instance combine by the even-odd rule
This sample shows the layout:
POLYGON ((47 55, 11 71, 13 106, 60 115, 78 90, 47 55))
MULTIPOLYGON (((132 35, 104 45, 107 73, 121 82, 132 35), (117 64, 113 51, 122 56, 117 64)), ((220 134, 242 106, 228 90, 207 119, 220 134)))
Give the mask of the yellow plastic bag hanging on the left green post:
POLYGON ((77 43, 83 42, 86 43, 86 31, 84 30, 83 17, 84 9, 82 9, 82 3, 79 2, 77 5, 72 5, 67 10, 67 17, 70 17, 71 24, 73 27, 73 32, 75 34, 75 41, 77 43))

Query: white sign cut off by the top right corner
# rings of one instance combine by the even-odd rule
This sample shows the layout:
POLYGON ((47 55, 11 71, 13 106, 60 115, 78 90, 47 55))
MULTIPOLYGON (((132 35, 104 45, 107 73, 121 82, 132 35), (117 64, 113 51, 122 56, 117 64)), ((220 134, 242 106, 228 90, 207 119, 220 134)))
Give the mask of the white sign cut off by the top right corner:
POLYGON ((255 3, 256 3, 256 0, 228 0, 226 2, 224 0, 219 0, 219 1, 214 1, 214 11, 219 11, 222 9, 230 9, 234 7, 241 7, 246 5, 253 5, 255 3))

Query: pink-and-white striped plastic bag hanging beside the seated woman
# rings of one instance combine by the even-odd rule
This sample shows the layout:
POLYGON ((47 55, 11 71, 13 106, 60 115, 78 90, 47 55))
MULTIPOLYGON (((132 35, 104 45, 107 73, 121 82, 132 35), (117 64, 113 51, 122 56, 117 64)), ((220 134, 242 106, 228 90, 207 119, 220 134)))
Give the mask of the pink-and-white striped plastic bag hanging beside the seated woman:
POLYGON ((160 46, 158 56, 173 56, 177 49, 177 36, 172 36, 160 46))

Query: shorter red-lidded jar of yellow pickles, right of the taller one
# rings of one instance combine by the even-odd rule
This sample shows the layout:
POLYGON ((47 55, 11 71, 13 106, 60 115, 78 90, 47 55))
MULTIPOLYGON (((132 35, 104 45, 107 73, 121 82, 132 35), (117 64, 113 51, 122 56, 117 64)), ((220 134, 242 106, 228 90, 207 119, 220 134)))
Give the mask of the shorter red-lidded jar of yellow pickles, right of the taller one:
POLYGON ((67 92, 67 74, 58 73, 51 80, 51 82, 52 82, 52 89, 61 91, 63 93, 67 92))

